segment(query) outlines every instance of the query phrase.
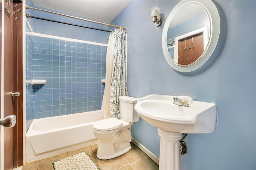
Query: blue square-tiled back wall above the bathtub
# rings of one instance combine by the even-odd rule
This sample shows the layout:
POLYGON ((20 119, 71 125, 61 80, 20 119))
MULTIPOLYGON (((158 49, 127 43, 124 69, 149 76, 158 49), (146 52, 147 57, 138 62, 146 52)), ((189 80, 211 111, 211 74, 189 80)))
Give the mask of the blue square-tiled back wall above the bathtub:
POLYGON ((26 85, 26 114, 33 112, 27 119, 101 109, 106 46, 47 35, 26 38, 26 79, 46 80, 26 85))

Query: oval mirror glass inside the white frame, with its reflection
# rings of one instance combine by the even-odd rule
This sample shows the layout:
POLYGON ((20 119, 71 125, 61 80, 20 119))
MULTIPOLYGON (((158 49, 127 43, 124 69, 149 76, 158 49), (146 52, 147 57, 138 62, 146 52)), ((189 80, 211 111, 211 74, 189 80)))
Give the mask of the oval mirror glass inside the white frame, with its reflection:
POLYGON ((209 41, 209 17, 199 4, 187 3, 174 13, 167 31, 167 50, 179 66, 190 66, 200 60, 209 41))

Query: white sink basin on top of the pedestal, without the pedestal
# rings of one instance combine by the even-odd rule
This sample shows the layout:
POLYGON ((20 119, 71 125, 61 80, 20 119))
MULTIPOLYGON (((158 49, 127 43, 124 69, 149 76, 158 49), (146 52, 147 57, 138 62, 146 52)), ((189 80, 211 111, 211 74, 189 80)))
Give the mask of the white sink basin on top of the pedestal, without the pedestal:
POLYGON ((173 96, 152 94, 139 98, 135 110, 140 117, 157 127, 178 133, 212 133, 216 129, 216 105, 186 98, 189 106, 173 104, 173 96))

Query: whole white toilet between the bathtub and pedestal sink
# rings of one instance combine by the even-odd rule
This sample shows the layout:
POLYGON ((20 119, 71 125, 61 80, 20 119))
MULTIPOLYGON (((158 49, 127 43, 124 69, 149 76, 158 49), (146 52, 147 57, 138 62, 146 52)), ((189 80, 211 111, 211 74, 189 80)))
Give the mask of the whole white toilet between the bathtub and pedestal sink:
POLYGON ((128 152, 132 148, 131 126, 139 121, 140 116, 134 106, 137 98, 120 96, 120 120, 108 118, 93 124, 94 136, 98 139, 97 157, 99 159, 111 159, 128 152))

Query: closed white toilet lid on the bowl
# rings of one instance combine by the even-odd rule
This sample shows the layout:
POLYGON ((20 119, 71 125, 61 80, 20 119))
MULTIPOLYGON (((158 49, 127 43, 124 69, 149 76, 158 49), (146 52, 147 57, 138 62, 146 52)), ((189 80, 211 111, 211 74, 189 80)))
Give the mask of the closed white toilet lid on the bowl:
POLYGON ((92 127, 98 131, 110 131, 122 127, 122 121, 116 118, 102 119, 95 122, 92 127))

